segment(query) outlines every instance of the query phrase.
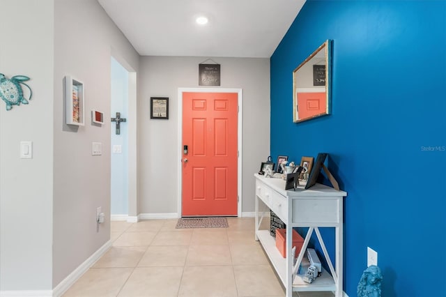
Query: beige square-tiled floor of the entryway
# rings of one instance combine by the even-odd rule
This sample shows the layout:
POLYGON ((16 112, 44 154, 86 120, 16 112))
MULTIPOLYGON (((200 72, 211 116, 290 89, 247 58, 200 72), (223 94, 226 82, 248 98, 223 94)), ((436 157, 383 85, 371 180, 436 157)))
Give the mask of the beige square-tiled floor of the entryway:
POLYGON ((63 297, 284 296, 254 240, 254 218, 228 218, 221 229, 175 229, 176 222, 112 222, 112 248, 63 297))

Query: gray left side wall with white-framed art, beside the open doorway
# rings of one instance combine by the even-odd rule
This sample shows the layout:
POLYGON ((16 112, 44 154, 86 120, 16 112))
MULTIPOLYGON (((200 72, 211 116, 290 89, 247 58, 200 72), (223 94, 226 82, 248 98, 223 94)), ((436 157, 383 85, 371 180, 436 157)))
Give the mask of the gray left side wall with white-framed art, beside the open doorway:
POLYGON ((54 6, 54 245, 53 286, 109 241, 110 77, 112 52, 134 69, 139 55, 95 0, 56 0, 54 6), (86 123, 64 123, 63 77, 84 83, 86 123), (91 124, 91 109, 105 125, 91 124), (102 155, 91 155, 91 142, 102 155), (107 218, 97 230, 96 208, 107 218))

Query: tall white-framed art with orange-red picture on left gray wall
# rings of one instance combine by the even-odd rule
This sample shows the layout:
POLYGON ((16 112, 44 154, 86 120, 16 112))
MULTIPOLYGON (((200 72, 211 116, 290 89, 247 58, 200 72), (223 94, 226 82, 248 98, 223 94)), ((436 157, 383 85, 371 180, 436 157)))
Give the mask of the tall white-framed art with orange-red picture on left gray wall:
POLYGON ((70 75, 65 77, 66 123, 85 124, 84 84, 70 75))

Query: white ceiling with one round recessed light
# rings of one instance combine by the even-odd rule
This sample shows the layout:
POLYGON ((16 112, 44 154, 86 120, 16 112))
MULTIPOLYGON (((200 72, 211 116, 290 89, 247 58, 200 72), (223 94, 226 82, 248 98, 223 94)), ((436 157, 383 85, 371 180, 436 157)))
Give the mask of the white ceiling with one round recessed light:
POLYGON ((141 56, 269 58, 305 0, 98 2, 141 56))

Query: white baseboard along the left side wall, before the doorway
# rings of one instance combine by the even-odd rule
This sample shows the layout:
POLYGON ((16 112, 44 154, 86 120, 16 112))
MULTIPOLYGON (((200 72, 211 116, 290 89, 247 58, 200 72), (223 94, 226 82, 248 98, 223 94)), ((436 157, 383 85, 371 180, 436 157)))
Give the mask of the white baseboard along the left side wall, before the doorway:
MULTIPOLYGON (((107 241, 105 245, 102 245, 94 254, 92 254, 89 259, 86 259, 84 263, 79 265, 70 275, 68 275, 64 280, 62 280, 52 291, 52 295, 54 297, 62 296, 63 293, 65 293, 71 286, 74 284, 77 280, 79 280, 79 277, 81 277, 86 271, 89 270, 93 264, 95 264, 95 261, 98 261, 100 257, 102 257, 109 248, 112 247, 112 241, 107 241)), ((25 295, 24 295, 25 296, 25 295)), ((27 295, 26 295, 27 296, 27 295)), ((31 296, 31 295, 30 295, 31 296)), ((32 295, 34 296, 34 295, 32 295)))

